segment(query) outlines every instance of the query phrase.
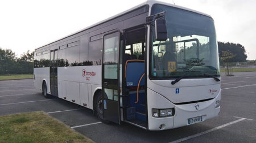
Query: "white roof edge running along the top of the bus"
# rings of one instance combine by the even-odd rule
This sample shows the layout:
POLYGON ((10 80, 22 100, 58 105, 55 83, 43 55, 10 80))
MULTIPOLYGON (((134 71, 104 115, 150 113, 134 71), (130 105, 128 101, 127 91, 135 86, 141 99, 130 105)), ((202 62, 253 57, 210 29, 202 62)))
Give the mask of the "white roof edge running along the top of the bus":
MULTIPOLYGON (((154 4, 162 4, 162 5, 172 6, 172 7, 180 8, 180 9, 183 9, 183 10, 188 10, 188 11, 195 12, 195 13, 197 13, 197 14, 205 15, 205 16, 208 16, 208 17, 212 18, 212 17, 211 17, 210 15, 208 15, 208 14, 204 14, 203 12, 199 12, 199 11, 196 11, 196 10, 192 10, 192 9, 190 9, 190 8, 186 8, 186 7, 182 7, 182 6, 177 6, 177 5, 173 5, 173 4, 171 4, 171 3, 166 3, 166 2, 161 2, 161 1, 148 0, 148 1, 146 1, 146 2, 141 3, 141 5, 137 5, 137 6, 135 6, 135 7, 132 7, 132 8, 130 8, 129 10, 123 11, 123 12, 121 12, 121 13, 119 13, 119 14, 117 14, 117 15, 114 15, 114 16, 108 18, 108 19, 105 19, 105 20, 102 20, 102 21, 100 21, 100 22, 98 22, 98 23, 96 23, 96 24, 90 25, 89 27, 86 27, 86 28, 84 28, 84 29, 81 29, 80 31, 77 31, 77 32, 75 32, 75 33, 69 34, 68 36, 65 36, 65 37, 63 37, 63 38, 60 38, 59 40, 55 40, 55 41, 53 41, 53 42, 50 42, 49 44, 46 44, 46 45, 44 45, 44 46, 53 44, 54 42, 63 40, 64 38, 73 36, 74 34, 80 33, 80 32, 85 31, 85 30, 87 30, 87 29, 96 27, 97 25, 100 25, 100 24, 102 24, 102 23, 105 23, 106 21, 110 21, 110 20, 112 20, 112 19, 114 19, 114 18, 117 18, 118 16, 124 15, 124 14, 126 14, 127 12, 133 11, 133 10, 139 8, 139 7, 144 6, 144 5, 149 5, 150 8, 151 8, 151 6, 154 5, 154 4)), ((151 10, 151 9, 150 9, 150 10, 151 10)), ((149 10, 149 14, 150 14, 150 10, 149 10)), ((35 50, 38 50, 38 49, 40 49, 41 47, 44 47, 44 46, 40 46, 40 47, 36 48, 35 50)))

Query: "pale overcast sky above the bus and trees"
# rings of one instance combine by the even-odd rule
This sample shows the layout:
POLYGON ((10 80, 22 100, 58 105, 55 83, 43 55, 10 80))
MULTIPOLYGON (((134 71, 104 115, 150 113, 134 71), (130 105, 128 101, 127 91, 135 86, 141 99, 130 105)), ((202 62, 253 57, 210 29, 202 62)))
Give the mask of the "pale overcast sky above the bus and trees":
MULTIPOLYGON (((256 59, 255 0, 161 0, 209 14, 217 40, 245 46, 256 59)), ((0 0, 0 47, 17 57, 137 6, 145 0, 0 0)), ((248 54, 250 53, 250 54, 248 54)), ((247 58, 247 59, 248 59, 247 58)))

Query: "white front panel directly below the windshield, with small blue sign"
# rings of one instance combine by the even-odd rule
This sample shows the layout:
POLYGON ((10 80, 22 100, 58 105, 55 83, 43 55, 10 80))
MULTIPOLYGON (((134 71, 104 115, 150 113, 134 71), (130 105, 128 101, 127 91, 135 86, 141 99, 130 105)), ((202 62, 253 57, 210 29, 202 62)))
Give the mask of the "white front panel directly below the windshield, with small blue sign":
POLYGON ((173 103, 214 98, 220 92, 220 82, 213 78, 181 79, 175 85, 172 85, 171 81, 173 80, 148 80, 147 87, 173 103), (176 88, 179 88, 179 94, 176 94, 176 88), (216 92, 212 94, 209 90, 216 90, 216 92))

